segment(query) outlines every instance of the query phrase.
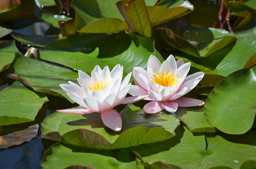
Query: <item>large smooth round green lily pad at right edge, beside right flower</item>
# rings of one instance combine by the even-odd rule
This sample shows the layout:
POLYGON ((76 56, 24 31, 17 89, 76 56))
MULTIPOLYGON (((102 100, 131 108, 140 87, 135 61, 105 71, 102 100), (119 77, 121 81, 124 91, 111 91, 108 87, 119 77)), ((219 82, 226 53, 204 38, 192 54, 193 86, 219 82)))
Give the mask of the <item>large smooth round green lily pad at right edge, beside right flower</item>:
POLYGON ((256 66, 224 78, 209 94, 204 106, 207 121, 228 134, 243 134, 251 128, 256 111, 256 66))

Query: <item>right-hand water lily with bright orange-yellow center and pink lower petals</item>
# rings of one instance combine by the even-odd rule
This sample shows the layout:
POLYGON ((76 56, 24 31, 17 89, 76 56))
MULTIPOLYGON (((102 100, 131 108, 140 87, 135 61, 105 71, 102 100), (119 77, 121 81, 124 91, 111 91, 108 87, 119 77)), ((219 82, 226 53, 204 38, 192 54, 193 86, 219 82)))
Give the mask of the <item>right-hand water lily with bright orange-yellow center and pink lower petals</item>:
POLYGON ((149 94, 144 100, 152 100, 143 109, 146 113, 157 113, 165 109, 174 113, 180 107, 201 106, 203 101, 185 98, 183 95, 191 91, 203 78, 203 72, 196 72, 188 77, 190 62, 175 61, 170 55, 162 64, 153 55, 148 59, 147 71, 140 67, 133 69, 136 85, 131 85, 132 96, 149 94))

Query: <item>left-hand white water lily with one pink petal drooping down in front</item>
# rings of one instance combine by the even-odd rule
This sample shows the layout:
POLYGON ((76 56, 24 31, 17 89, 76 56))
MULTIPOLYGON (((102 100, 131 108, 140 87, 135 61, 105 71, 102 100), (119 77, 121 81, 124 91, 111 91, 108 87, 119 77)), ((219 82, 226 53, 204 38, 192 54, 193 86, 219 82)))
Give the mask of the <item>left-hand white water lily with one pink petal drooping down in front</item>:
POLYGON ((113 108, 119 104, 134 103, 148 96, 136 95, 126 98, 131 86, 129 83, 131 74, 129 73, 122 82, 123 66, 120 64, 116 65, 111 72, 108 66, 101 70, 100 66, 97 65, 92 71, 92 77, 79 70, 77 80, 80 86, 69 81, 69 84, 61 84, 60 87, 70 99, 85 108, 57 111, 73 114, 99 112, 105 126, 114 131, 120 131, 122 119, 113 108))

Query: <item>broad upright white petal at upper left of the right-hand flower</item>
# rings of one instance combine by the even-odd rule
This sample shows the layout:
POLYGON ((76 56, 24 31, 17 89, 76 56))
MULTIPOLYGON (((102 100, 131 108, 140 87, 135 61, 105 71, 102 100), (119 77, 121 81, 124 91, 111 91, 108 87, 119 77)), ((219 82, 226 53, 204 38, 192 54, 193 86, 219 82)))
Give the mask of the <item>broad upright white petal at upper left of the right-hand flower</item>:
POLYGON ((149 78, 153 77, 153 74, 157 73, 157 71, 160 70, 160 67, 161 67, 160 61, 154 55, 150 55, 147 63, 148 77, 149 78))

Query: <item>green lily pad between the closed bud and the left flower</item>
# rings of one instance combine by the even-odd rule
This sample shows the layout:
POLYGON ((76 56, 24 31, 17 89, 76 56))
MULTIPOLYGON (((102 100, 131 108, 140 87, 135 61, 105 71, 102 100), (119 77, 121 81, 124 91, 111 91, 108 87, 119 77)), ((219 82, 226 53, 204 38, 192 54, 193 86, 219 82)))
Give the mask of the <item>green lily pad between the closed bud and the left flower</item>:
MULTIPOLYGON (((77 72, 37 59, 27 58, 17 53, 9 73, 17 74, 18 76, 11 77, 20 79, 35 91, 63 98, 67 97, 67 95, 59 85, 68 84, 69 80, 76 82, 78 78, 77 72)), ((69 98, 67 97, 67 99, 69 98)), ((74 103, 71 99, 69 101, 74 103)))

